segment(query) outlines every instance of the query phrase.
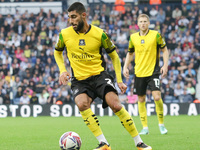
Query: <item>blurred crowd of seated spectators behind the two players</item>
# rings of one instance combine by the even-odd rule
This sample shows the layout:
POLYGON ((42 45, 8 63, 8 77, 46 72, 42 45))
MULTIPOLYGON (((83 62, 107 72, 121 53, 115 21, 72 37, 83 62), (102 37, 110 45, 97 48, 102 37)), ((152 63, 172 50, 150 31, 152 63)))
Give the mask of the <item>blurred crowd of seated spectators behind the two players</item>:
MULTIPOLYGON (((125 6, 125 12, 114 6, 88 6, 88 23, 104 29, 117 46, 122 67, 128 51, 129 36, 139 30, 137 16, 150 17, 150 29, 159 31, 170 52, 169 72, 162 78, 162 98, 165 103, 193 102, 200 64, 200 14, 195 7, 125 6)), ((71 104, 70 89, 59 85, 59 69, 54 60, 54 45, 61 29, 68 27, 67 12, 38 14, 16 10, 14 15, 0 14, 0 104, 71 104)), ((107 69, 115 76, 112 62, 104 54, 107 69)), ((66 68, 69 61, 64 51, 66 68)), ((162 66, 162 53, 160 54, 162 66)), ((122 103, 136 103, 133 94, 134 62, 129 66, 130 78, 125 79, 128 89, 119 97, 122 103)), ((153 102, 147 90, 147 102, 153 102)), ((97 100, 98 101, 98 100, 97 100)))

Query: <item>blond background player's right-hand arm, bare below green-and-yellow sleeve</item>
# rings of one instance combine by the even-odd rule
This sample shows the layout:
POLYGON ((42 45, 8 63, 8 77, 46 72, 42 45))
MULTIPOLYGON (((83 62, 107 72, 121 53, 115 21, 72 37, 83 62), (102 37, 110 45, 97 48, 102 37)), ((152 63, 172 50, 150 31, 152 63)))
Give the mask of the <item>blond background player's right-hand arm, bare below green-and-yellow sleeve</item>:
POLYGON ((167 75, 167 71, 168 71, 169 51, 167 49, 165 40, 160 35, 160 33, 157 34, 157 43, 158 43, 160 49, 163 51, 163 62, 164 62, 164 64, 161 67, 160 71, 162 73, 162 77, 165 77, 167 75))

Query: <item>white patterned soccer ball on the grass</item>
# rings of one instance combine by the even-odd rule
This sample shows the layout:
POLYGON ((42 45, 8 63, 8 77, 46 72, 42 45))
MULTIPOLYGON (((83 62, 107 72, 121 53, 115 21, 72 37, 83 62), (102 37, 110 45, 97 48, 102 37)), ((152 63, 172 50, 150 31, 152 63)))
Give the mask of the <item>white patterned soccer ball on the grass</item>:
POLYGON ((62 150, 79 150, 81 143, 80 136, 72 131, 65 132, 59 140, 59 145, 62 150))

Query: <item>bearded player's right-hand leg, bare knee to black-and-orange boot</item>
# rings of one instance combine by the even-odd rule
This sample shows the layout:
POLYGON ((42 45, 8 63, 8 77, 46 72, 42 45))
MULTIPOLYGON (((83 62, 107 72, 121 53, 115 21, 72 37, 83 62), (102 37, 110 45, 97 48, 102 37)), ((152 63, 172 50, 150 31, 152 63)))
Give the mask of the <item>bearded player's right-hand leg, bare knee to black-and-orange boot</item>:
POLYGON ((134 123, 132 117, 127 112, 127 110, 124 109, 124 107, 122 107, 117 94, 112 91, 108 92, 105 95, 105 100, 106 100, 108 106, 119 117, 124 128, 133 137, 133 139, 135 141, 135 146, 141 150, 151 150, 150 146, 147 146, 146 144, 143 143, 143 141, 140 138, 140 135, 138 134, 138 131, 135 127, 135 123, 134 123))

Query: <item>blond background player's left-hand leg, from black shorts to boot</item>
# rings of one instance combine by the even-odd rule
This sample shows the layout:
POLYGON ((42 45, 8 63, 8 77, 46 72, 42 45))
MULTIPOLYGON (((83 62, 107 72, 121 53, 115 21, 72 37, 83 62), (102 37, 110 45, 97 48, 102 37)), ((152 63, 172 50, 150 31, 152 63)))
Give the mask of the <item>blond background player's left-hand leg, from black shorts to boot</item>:
POLYGON ((147 125, 147 110, 146 110, 146 89, 147 89, 148 77, 136 77, 134 82, 134 93, 138 95, 138 110, 140 115, 140 121, 143 129, 140 131, 140 135, 149 134, 147 125))

